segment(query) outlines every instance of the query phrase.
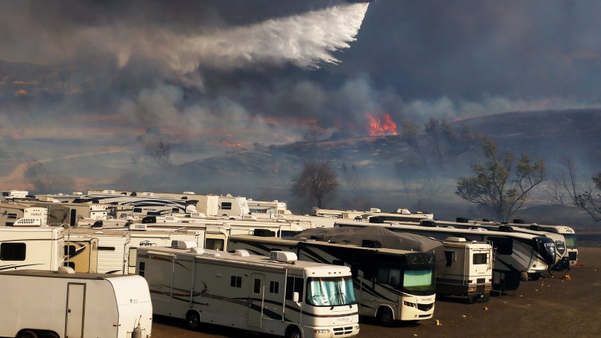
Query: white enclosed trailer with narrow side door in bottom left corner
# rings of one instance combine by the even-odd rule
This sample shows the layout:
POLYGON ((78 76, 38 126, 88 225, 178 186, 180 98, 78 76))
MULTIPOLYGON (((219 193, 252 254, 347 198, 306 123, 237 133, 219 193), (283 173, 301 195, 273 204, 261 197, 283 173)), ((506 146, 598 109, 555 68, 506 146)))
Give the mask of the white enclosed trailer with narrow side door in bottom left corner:
POLYGON ((152 303, 140 276, 0 272, 2 337, 151 337, 152 303))

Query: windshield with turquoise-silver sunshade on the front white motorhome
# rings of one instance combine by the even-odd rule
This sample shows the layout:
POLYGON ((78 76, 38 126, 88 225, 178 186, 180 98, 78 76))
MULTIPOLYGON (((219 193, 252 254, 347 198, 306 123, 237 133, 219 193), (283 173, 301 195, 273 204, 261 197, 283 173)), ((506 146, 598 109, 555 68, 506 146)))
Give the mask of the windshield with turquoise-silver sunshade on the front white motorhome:
POLYGON ((309 305, 337 306, 355 303, 351 276, 310 277, 307 281, 307 303, 309 305))

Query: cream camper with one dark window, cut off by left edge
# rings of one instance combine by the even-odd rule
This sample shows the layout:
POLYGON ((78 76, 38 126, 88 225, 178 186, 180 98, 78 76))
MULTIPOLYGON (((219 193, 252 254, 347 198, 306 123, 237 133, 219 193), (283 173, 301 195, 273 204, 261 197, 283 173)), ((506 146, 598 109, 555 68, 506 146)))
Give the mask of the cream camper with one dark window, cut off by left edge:
POLYGON ((40 225, 0 226, 0 270, 56 271, 64 262, 63 230, 40 225))

